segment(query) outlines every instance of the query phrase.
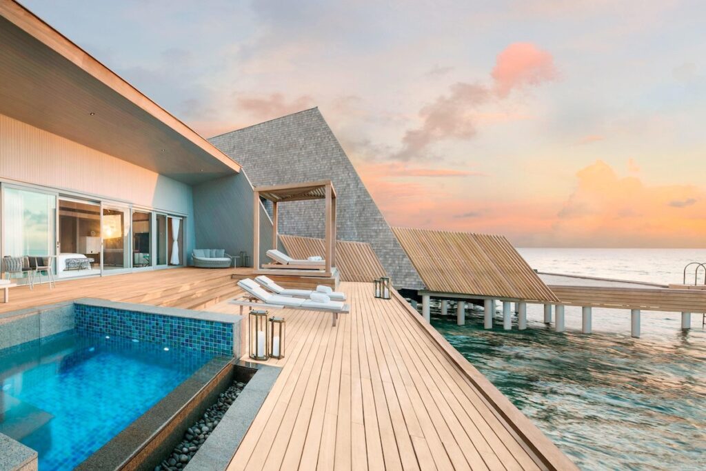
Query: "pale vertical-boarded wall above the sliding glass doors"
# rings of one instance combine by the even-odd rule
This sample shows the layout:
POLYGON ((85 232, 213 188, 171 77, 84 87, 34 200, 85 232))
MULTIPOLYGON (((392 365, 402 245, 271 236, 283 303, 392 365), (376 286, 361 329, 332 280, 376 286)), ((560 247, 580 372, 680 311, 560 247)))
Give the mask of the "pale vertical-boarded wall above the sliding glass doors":
POLYGON ((169 213, 191 215, 193 210, 191 186, 3 114, 0 178, 169 213))

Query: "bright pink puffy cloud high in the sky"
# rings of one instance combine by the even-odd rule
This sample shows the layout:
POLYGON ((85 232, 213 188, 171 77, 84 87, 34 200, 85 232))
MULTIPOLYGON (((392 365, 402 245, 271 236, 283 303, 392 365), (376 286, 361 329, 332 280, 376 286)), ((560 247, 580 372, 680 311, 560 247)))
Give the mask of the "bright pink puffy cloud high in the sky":
POLYGON ((498 54, 491 76, 498 96, 506 97, 515 88, 553 81, 557 73, 549 52, 529 42, 515 42, 498 54))

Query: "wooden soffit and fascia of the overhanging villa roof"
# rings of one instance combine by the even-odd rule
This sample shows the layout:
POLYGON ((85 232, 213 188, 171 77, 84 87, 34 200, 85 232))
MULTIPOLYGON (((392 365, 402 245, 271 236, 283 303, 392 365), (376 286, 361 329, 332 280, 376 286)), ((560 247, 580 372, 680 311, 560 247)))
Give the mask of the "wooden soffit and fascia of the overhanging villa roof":
POLYGON ((0 113, 187 184, 240 171, 189 126, 11 0, 0 0, 0 113))

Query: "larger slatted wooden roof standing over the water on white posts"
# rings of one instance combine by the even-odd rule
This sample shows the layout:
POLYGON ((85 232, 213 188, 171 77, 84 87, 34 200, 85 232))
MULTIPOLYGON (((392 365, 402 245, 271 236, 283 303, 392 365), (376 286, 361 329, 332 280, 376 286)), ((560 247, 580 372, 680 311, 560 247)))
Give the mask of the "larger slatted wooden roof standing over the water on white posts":
POLYGON ((558 302, 508 239, 393 227, 430 292, 558 302))

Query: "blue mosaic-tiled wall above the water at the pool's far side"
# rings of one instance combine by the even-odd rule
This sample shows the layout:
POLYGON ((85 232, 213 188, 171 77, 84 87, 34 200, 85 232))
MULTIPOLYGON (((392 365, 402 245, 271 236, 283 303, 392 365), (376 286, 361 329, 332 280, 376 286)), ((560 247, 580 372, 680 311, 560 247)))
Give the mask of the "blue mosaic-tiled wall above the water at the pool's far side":
POLYGON ((233 355, 233 324, 74 304, 76 330, 119 335, 172 348, 233 355))

